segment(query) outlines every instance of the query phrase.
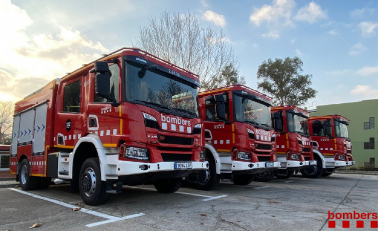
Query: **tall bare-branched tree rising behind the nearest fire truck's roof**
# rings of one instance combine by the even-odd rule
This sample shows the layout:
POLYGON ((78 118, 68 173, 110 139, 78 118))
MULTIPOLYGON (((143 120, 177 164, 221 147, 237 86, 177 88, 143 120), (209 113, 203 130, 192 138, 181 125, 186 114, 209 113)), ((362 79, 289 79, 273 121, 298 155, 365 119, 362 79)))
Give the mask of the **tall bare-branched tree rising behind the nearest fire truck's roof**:
POLYGON ((219 76, 225 66, 235 65, 231 43, 222 31, 202 28, 195 15, 170 14, 164 10, 160 19, 150 18, 133 46, 198 74, 201 89, 211 88, 212 78, 219 76))

